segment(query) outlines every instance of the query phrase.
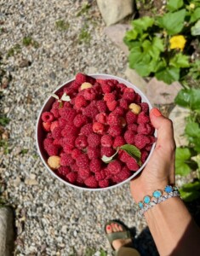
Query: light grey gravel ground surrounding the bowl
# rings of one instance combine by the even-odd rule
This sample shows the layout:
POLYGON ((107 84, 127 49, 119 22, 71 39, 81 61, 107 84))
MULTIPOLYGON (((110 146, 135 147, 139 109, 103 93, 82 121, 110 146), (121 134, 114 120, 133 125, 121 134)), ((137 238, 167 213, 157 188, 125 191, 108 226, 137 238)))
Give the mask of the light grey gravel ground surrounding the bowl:
POLYGON ((12 75, 2 102, 11 119, 10 153, 0 155, 0 172, 16 211, 16 255, 86 255, 87 247, 111 255, 104 224, 113 218, 136 228, 143 255, 157 255, 145 221, 135 214, 128 183, 106 192, 77 191, 51 177, 37 156, 37 114, 49 92, 77 72, 125 78, 126 57, 106 38, 105 24, 95 1, 91 3, 77 16, 80 1, 0 0, 0 51, 12 75), (56 20, 67 21, 69 28, 58 30, 56 20), (38 45, 23 45, 27 36, 38 45), (14 55, 7 58, 13 47, 14 55))

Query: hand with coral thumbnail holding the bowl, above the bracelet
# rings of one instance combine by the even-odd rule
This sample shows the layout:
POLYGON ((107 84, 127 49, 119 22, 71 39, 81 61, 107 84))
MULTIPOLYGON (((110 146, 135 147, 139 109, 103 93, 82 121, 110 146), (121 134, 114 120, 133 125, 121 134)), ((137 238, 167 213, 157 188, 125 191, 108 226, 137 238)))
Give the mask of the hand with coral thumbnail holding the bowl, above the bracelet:
POLYGON ((150 112, 151 124, 157 129, 157 143, 144 170, 130 182, 134 201, 175 183, 175 142, 172 121, 163 117, 157 108, 150 112))

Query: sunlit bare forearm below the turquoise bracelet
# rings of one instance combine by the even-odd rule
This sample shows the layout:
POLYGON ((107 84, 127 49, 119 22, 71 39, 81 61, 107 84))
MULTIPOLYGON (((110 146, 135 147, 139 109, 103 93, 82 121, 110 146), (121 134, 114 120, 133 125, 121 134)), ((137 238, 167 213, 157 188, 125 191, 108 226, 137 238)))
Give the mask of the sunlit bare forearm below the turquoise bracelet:
POLYGON ((200 230, 180 198, 157 204, 145 217, 160 255, 200 255, 200 230))

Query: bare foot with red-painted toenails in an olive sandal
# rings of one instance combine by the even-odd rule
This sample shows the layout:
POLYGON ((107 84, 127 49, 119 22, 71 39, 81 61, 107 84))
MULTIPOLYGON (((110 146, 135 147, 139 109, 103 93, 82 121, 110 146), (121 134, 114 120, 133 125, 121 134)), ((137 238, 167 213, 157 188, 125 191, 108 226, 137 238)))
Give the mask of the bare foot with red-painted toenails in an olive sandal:
MULTIPOLYGON (((120 224, 116 224, 116 223, 111 223, 111 224, 108 224, 106 225, 106 232, 107 234, 111 234, 113 232, 123 232, 124 229, 123 229, 123 226, 121 226, 120 224)), ((131 243, 131 239, 128 238, 128 239, 116 239, 114 241, 112 241, 112 247, 114 247, 114 249, 116 251, 118 251, 118 249, 120 247, 123 247, 124 245, 128 244, 128 243, 131 243)))

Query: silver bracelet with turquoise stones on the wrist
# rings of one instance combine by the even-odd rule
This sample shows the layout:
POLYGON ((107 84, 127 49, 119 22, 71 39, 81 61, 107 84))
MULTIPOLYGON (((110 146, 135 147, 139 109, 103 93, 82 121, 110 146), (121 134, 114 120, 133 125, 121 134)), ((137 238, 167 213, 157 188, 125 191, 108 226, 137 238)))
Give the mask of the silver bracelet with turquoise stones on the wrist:
POLYGON ((180 192, 175 186, 167 185, 164 190, 157 189, 152 193, 152 196, 146 195, 143 199, 143 201, 140 201, 138 203, 139 206, 139 215, 142 216, 147 210, 149 210, 151 207, 156 206, 162 201, 166 201, 167 199, 174 197, 174 196, 180 196, 180 192), (163 195, 163 192, 166 194, 163 195), (151 201, 151 198, 155 198, 155 200, 151 201))

